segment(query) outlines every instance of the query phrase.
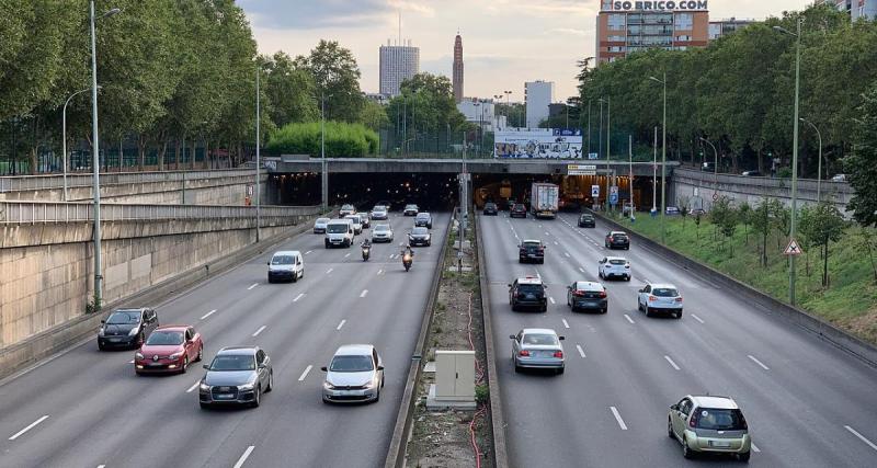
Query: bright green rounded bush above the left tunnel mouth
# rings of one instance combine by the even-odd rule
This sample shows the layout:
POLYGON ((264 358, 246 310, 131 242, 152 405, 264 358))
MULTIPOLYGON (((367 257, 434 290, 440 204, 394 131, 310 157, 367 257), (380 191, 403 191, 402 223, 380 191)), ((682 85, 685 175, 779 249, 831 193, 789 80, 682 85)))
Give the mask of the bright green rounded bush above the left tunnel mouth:
MULTIPOLYGON (((265 151, 274 155, 320 156, 321 125, 319 122, 287 124, 269 138, 265 151)), ((361 124, 326 123, 326 157, 360 158, 374 155, 379 148, 375 132, 361 124)))

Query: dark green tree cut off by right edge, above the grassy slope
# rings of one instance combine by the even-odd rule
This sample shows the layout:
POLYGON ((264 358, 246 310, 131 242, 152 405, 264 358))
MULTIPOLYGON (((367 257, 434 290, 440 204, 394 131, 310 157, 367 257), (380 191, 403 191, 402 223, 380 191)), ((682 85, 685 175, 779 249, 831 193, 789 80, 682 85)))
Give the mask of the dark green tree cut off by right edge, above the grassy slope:
POLYGON ((877 225, 877 81, 863 96, 859 122, 854 125, 855 150, 844 167, 855 195, 847 208, 862 226, 877 225))

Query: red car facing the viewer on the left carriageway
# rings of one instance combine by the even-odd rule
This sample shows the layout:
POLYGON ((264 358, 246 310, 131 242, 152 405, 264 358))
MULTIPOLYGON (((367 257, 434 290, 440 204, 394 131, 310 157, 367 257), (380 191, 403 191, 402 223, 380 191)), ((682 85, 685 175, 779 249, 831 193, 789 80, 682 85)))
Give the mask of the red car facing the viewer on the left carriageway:
POLYGON ((134 355, 134 372, 143 374, 183 374, 189 364, 201 361, 204 342, 190 326, 163 326, 149 335, 134 355))

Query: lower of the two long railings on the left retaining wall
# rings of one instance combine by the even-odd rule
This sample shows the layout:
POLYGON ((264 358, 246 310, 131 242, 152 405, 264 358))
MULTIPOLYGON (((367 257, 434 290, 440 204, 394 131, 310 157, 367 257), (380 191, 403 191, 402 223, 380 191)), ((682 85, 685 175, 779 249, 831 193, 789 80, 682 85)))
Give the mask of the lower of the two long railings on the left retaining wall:
MULTIPOLYGON (((101 204, 101 221, 157 219, 255 218, 254 206, 117 205, 101 204)), ((319 206, 263 206, 262 218, 286 218, 319 213, 319 206)), ((92 221, 92 203, 0 202, 0 224, 92 221)))

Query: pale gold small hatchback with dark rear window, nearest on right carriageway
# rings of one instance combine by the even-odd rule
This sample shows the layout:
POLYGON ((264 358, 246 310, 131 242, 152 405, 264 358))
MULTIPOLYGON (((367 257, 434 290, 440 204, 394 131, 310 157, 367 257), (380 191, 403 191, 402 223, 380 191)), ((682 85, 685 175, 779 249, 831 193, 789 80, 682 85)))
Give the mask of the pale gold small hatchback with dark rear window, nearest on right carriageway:
POLYGON ((711 452, 749 461, 752 452, 747 419, 728 397, 685 396, 670 407, 667 435, 682 444, 685 458, 711 452))

